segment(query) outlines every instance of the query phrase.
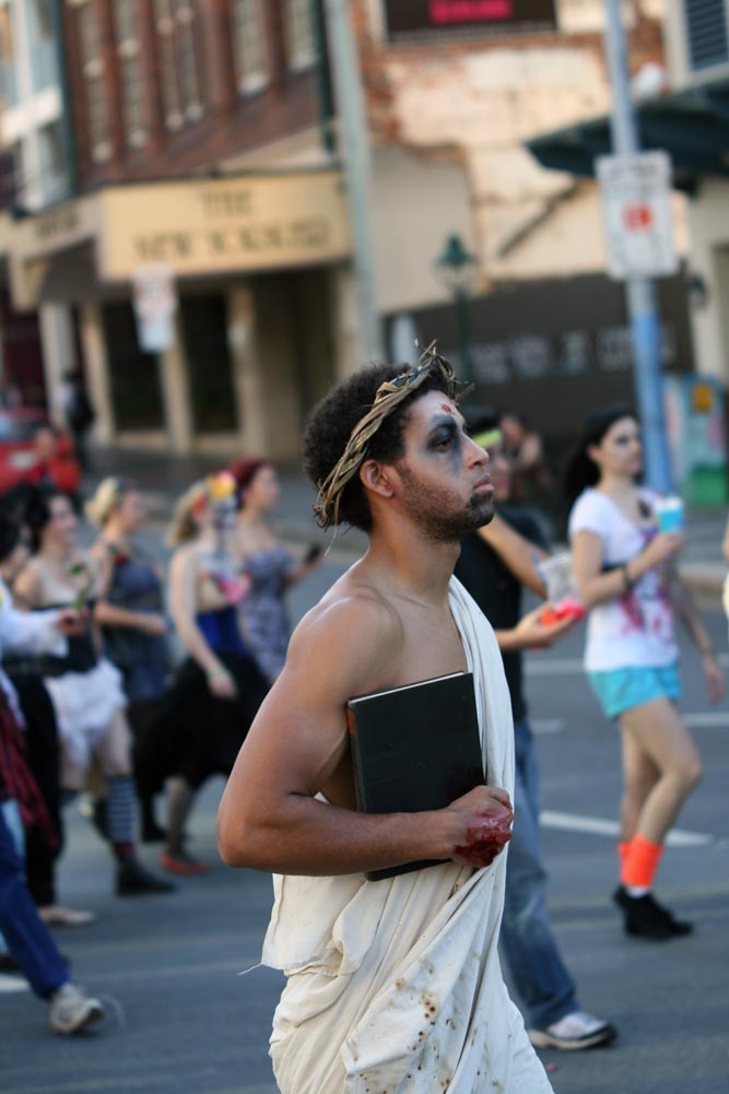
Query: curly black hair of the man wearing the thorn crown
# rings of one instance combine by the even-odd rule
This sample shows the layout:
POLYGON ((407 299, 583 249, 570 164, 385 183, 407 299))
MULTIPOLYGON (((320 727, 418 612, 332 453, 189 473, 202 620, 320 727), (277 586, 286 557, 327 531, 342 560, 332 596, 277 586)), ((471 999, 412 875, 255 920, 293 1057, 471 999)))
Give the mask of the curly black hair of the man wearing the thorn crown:
MULTIPOLYGON (((372 406, 380 384, 394 380, 409 368, 412 365, 386 363, 364 365, 337 384, 310 411, 304 427, 302 455, 304 470, 314 486, 324 481, 342 456, 355 426, 372 406)), ((367 458, 386 464, 402 458, 405 454, 403 430, 409 407, 433 391, 448 394, 448 384, 437 370, 384 419, 369 442, 367 458)), ((359 475, 355 475, 343 490, 339 521, 362 532, 372 531, 372 513, 359 475)))

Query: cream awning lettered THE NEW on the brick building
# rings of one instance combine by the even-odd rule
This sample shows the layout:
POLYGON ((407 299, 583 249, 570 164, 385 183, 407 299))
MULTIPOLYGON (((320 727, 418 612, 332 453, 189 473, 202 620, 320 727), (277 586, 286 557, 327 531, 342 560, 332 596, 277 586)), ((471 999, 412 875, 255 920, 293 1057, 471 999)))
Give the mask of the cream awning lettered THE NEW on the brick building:
POLYGON ((18 309, 88 300, 162 264, 176 279, 242 277, 346 260, 347 195, 335 168, 113 184, 0 219, 18 309))

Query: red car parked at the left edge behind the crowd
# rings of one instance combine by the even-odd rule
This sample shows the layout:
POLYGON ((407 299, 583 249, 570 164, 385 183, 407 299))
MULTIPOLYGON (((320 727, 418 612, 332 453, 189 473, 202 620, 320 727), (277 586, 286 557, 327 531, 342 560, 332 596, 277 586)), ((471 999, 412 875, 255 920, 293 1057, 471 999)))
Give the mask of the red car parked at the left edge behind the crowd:
POLYGON ((0 410, 0 493, 21 482, 53 482, 76 494, 81 465, 73 442, 42 410, 0 410))

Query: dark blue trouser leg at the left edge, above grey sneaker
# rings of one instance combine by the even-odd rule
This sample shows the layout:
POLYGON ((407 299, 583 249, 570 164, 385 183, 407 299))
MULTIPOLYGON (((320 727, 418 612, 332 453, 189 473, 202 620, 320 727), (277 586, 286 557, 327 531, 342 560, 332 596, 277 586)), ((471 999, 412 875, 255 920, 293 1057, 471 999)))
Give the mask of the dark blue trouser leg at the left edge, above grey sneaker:
POLYGON ((23 882, 23 866, 0 808, 0 931, 36 996, 68 982, 68 968, 23 882))

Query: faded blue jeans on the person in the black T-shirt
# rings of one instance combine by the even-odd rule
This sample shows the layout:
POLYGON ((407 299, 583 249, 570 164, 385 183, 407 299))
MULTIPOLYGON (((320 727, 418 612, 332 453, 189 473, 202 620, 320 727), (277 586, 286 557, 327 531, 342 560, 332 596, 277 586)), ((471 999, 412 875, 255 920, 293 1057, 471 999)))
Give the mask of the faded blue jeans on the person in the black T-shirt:
POLYGON ((540 788, 532 731, 514 724, 513 835, 507 860, 501 944, 528 1026, 544 1028, 578 1009, 575 984, 559 956, 546 909, 540 853, 540 788))

